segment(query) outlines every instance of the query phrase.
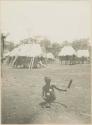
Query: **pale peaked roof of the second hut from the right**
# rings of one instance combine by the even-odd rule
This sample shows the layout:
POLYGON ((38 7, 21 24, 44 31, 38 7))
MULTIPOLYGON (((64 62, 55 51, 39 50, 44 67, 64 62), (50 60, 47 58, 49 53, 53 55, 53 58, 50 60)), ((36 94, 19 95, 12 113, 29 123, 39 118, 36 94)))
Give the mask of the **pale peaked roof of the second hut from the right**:
POLYGON ((76 51, 72 46, 64 46, 59 53, 59 56, 67 56, 67 55, 69 56, 76 55, 76 51))

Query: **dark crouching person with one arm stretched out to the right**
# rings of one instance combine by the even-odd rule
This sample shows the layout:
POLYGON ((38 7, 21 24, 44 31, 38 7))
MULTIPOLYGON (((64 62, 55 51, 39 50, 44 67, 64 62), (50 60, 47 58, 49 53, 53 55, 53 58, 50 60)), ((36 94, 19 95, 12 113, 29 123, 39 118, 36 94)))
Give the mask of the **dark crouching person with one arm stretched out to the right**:
POLYGON ((64 91, 64 92, 66 92, 67 90, 57 88, 55 85, 50 85, 51 79, 49 77, 45 77, 44 80, 46 84, 42 88, 42 97, 45 100, 45 102, 44 104, 42 104, 42 106, 46 105, 47 108, 50 108, 50 104, 54 100, 56 100, 54 89, 57 89, 59 91, 64 91))

